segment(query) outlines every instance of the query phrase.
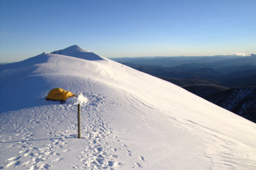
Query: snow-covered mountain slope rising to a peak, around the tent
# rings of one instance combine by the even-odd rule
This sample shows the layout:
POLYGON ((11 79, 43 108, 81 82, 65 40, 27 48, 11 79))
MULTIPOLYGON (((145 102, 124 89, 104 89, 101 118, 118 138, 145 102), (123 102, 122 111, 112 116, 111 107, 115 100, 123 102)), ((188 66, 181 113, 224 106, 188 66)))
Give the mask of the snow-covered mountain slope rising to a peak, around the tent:
POLYGON ((255 123, 77 45, 54 53, 1 66, 0 169, 256 169, 255 123), (57 87, 79 97, 44 100, 57 87))

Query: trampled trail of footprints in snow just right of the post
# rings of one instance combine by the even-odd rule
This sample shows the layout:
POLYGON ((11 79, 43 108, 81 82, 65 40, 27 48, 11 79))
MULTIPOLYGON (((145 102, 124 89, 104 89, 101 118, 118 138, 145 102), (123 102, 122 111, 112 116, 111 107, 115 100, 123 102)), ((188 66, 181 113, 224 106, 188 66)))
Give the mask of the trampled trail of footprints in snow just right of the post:
MULTIPOLYGON (((111 130, 106 125, 106 121, 102 119, 103 111, 99 104, 104 104, 104 97, 100 95, 89 98, 91 101, 84 108, 87 116, 86 124, 82 126, 82 135, 87 140, 85 148, 79 156, 82 164, 74 166, 77 169, 85 168, 110 168, 117 165, 115 156, 109 153, 109 137, 111 137, 111 130)), ((83 109, 82 109, 83 111, 83 109)))

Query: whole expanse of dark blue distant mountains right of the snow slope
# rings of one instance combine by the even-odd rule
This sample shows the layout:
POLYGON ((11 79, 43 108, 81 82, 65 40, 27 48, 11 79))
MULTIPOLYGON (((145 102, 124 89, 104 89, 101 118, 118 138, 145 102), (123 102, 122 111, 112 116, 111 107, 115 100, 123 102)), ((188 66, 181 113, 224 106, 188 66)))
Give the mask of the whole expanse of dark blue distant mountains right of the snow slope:
POLYGON ((172 82, 256 123, 255 55, 113 60, 172 82))

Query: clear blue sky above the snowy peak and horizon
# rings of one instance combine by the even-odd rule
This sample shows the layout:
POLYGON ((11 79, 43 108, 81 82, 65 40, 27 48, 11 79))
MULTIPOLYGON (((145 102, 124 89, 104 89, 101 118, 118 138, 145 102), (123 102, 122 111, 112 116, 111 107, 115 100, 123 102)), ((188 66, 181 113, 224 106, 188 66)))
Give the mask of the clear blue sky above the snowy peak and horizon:
POLYGON ((106 58, 256 52, 255 0, 0 0, 0 62, 79 45, 106 58))

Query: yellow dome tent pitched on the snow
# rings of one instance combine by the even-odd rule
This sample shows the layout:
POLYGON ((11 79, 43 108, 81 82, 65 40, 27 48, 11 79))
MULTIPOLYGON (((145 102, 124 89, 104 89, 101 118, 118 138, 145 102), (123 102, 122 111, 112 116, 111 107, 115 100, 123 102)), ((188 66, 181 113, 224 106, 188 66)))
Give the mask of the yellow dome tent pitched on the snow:
POLYGON ((64 101, 67 100, 68 97, 75 97, 76 95, 73 95, 70 91, 65 91, 65 89, 56 88, 52 89, 47 97, 46 100, 60 100, 64 101))

